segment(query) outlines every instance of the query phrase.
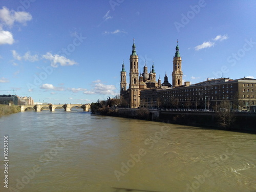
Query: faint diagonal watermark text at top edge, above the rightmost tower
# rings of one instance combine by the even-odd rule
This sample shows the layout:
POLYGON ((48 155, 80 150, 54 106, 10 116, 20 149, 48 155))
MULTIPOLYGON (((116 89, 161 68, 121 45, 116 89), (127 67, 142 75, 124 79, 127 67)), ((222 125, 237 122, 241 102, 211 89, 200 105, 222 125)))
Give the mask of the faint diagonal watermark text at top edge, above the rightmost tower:
POLYGON ((206 3, 204 0, 199 0, 198 5, 195 6, 189 6, 190 7, 190 11, 187 12, 186 15, 184 15, 183 13, 181 14, 182 18, 181 18, 181 23, 178 22, 174 22, 174 25, 177 29, 178 32, 180 32, 180 28, 184 28, 185 25, 187 25, 191 19, 193 19, 196 14, 198 14, 201 10, 201 8, 205 7, 206 3))

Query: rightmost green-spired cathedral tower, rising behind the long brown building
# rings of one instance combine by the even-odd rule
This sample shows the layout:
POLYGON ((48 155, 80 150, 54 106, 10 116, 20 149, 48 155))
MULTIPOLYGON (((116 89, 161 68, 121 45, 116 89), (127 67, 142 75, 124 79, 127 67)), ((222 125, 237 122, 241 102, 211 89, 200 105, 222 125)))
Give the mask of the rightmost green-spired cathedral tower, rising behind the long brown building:
POLYGON ((179 87, 182 85, 182 75, 183 72, 181 71, 181 56, 179 52, 179 46, 178 46, 178 40, 177 40, 177 46, 176 46, 176 53, 173 60, 173 87, 179 87))

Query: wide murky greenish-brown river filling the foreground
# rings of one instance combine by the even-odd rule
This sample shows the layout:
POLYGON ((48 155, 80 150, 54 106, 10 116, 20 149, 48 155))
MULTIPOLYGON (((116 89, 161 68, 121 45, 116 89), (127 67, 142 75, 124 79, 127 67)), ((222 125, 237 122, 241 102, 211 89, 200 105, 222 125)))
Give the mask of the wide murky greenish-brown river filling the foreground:
POLYGON ((256 191, 256 135, 27 111, 0 118, 1 191, 256 191))

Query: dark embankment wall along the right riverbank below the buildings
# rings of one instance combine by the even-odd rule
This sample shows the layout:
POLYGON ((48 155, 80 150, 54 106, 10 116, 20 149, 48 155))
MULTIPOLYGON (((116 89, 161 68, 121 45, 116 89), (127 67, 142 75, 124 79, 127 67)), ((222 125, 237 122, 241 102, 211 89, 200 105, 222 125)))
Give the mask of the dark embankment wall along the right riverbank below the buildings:
MULTIPOLYGON (((222 129, 219 114, 216 112, 108 108, 102 115, 222 129)), ((234 121, 231 130, 256 132, 256 113, 239 112, 232 115, 234 121)))

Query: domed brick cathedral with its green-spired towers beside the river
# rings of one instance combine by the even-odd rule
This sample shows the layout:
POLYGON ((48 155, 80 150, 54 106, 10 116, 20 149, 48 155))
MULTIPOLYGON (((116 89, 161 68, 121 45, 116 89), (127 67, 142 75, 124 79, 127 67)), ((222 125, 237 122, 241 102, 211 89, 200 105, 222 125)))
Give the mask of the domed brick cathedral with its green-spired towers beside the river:
POLYGON ((135 42, 133 41, 132 54, 130 55, 130 83, 129 88, 126 89, 126 71, 124 68, 124 63, 122 65, 122 70, 120 73, 121 81, 120 81, 120 97, 124 100, 124 103, 129 108, 139 108, 140 106, 140 91, 142 90, 150 90, 156 88, 172 88, 182 86, 182 70, 181 70, 181 56, 179 53, 179 46, 177 41, 176 53, 173 60, 173 86, 168 82, 167 74, 165 73, 164 82, 161 83, 160 76, 156 81, 156 72, 154 62, 152 63, 152 67, 150 72, 148 73, 148 69, 145 65, 143 67, 143 73, 139 75, 139 57, 136 53, 135 42))

